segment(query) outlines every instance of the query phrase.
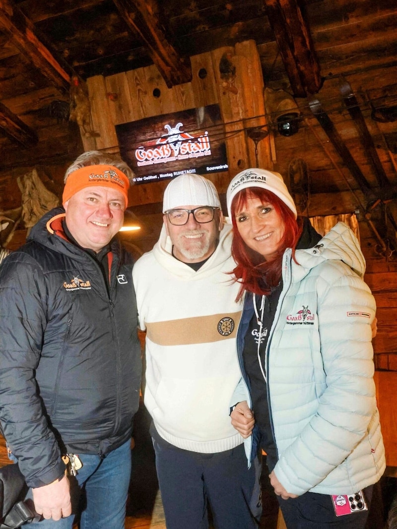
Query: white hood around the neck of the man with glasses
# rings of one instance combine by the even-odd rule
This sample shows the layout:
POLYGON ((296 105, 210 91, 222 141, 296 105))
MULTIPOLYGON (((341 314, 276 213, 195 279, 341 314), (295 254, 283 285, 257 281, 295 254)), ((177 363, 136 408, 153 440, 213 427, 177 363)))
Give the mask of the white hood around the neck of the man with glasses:
POLYGON ((230 271, 233 269, 231 259, 231 224, 226 223, 220 232, 219 243, 212 256, 205 261, 204 265, 197 271, 193 270, 186 263, 179 261, 172 254, 172 242, 166 233, 165 225, 161 228, 160 237, 152 252, 158 263, 181 279, 202 279, 208 275, 213 275, 216 269, 222 268, 227 261, 230 261, 230 271))

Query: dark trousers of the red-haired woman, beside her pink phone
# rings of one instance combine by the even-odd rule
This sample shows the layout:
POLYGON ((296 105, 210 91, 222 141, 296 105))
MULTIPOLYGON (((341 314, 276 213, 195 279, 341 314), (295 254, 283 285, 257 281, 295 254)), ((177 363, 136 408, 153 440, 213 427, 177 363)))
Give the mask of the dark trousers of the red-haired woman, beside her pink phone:
MULTIPOLYGON (((374 486, 364 489, 368 510, 374 486)), ((364 529, 368 510, 336 516, 331 496, 306 492, 298 498, 277 496, 287 529, 364 529)))

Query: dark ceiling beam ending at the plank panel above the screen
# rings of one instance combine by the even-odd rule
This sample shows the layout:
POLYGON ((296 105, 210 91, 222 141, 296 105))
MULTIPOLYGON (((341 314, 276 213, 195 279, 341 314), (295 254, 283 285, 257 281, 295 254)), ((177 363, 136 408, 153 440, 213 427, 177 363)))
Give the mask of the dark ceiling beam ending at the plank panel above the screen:
POLYGON ((182 57, 167 40, 155 0, 113 0, 131 30, 145 42, 152 61, 168 88, 192 80, 190 59, 182 57))

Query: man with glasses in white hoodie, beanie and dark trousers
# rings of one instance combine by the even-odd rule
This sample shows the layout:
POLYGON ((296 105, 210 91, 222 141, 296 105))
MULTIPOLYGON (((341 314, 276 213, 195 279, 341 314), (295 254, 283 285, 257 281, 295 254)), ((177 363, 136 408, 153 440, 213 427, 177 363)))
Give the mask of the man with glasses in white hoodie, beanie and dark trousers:
MULTIPOLYGON (((168 529, 253 529, 260 517, 259 464, 247 467, 230 423, 240 380, 241 304, 231 281, 231 226, 218 193, 196 174, 164 193, 164 225, 133 268, 146 335, 145 404, 168 529)), ((250 460, 250 458, 248 458, 250 460)))

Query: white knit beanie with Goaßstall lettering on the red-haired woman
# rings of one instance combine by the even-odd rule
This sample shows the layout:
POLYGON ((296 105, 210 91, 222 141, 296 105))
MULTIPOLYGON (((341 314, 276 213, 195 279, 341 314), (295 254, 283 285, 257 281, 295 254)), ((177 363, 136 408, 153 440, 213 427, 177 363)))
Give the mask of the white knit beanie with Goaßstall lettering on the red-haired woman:
POLYGON ((294 200, 284 184, 283 177, 278 172, 267 171, 266 169, 245 169, 232 179, 226 193, 229 217, 231 217, 233 198, 241 189, 246 189, 247 187, 261 187, 271 191, 291 209, 295 218, 297 217, 294 200))

